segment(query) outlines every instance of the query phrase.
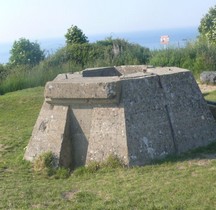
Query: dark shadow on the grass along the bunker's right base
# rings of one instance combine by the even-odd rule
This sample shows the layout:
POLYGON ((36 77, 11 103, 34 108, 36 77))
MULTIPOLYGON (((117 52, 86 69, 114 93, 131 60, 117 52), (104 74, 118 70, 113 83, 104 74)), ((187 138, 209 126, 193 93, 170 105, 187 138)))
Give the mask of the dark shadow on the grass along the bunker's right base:
POLYGON ((175 163, 193 159, 216 159, 216 141, 205 147, 198 147, 179 155, 168 155, 164 159, 153 161, 151 165, 168 162, 175 163))

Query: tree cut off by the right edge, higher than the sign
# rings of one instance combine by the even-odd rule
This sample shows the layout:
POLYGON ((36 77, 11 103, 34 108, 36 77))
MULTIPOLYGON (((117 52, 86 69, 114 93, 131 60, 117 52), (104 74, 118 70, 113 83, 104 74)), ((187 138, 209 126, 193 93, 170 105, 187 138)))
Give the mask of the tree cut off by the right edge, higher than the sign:
POLYGON ((201 19, 199 32, 209 43, 216 44, 216 5, 201 19))

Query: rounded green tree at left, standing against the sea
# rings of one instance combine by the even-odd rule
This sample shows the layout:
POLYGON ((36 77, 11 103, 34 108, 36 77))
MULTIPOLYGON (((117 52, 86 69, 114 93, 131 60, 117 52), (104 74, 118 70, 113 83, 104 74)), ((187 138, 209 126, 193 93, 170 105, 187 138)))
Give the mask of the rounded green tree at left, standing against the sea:
POLYGON ((20 38, 15 41, 10 51, 9 62, 11 65, 36 65, 45 58, 44 51, 37 42, 20 38))

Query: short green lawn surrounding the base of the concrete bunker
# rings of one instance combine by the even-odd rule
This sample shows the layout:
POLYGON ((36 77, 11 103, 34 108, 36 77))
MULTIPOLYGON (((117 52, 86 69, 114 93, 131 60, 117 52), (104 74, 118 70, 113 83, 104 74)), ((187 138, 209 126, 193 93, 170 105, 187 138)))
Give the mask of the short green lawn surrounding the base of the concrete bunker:
MULTIPOLYGON (((196 158, 189 154, 151 166, 106 169, 68 179, 35 174, 23 154, 42 101, 43 88, 0 96, 0 209, 197 210, 216 206, 216 155, 204 158, 203 151, 196 158)), ((216 154, 216 145, 204 151, 216 154)))

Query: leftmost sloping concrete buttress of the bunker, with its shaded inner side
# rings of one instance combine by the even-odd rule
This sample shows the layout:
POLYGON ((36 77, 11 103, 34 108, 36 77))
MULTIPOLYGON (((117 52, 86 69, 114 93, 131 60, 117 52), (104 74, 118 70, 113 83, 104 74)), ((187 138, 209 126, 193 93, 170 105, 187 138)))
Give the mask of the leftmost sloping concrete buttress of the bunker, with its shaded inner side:
POLYGON ((24 158, 33 161, 40 154, 52 151, 56 166, 71 166, 68 107, 43 103, 24 158))

